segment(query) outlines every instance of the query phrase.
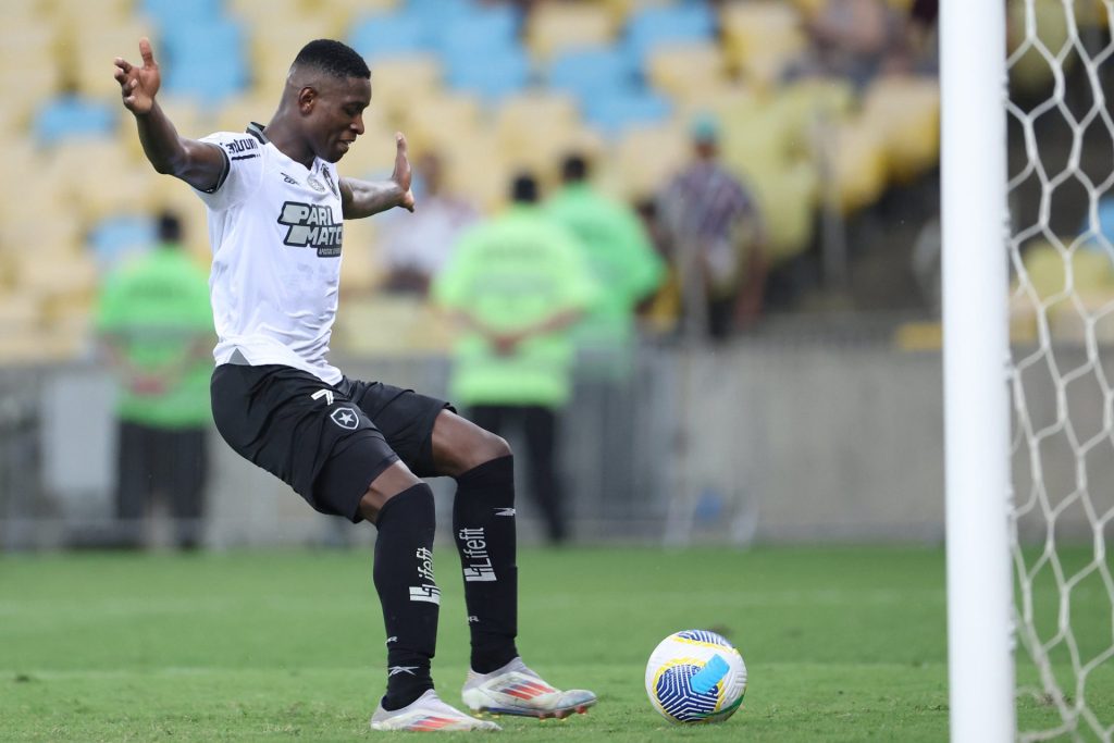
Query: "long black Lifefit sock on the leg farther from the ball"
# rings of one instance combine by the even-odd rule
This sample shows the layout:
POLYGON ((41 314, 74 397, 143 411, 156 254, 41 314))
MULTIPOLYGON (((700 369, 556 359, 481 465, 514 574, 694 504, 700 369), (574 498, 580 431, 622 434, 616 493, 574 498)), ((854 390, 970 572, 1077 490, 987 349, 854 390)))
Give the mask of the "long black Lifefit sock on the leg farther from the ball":
POLYGON ((375 525, 375 590, 387 628, 387 695, 399 710, 433 688, 429 665, 437 649, 441 592, 433 581, 433 491, 422 482, 394 496, 375 525))

